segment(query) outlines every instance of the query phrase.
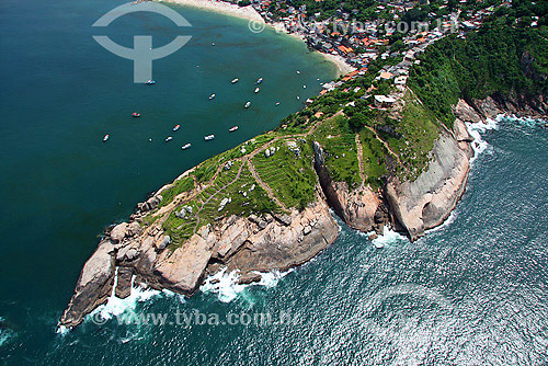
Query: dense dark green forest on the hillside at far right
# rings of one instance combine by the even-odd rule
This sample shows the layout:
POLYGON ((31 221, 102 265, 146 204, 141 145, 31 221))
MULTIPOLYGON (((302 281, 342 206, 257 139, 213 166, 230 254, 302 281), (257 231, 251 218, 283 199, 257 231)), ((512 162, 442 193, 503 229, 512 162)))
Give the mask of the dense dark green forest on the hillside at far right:
POLYGON ((448 127, 452 105, 490 95, 548 93, 548 38, 544 27, 516 24, 501 10, 466 41, 455 35, 426 48, 411 69, 409 85, 448 127))

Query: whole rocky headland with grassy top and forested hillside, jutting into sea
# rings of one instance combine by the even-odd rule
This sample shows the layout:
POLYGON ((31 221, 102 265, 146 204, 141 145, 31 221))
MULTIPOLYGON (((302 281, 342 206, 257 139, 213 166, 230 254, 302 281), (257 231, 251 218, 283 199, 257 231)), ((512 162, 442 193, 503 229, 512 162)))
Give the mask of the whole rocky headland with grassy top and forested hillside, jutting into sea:
MULTIPOLYGON (((442 16, 457 21, 460 11, 442 16)), ((352 61, 356 71, 278 128, 138 204, 84 264, 60 325, 78 325, 104 304, 115 276, 121 298, 133 278, 190 296, 225 267, 250 283, 299 265, 336 239, 330 209, 372 237, 389 226, 416 240, 441 225, 466 188, 473 155, 466 124, 548 115, 546 26, 516 22, 503 3, 475 11, 482 15, 467 18, 479 31, 383 41, 376 57, 355 57, 366 67, 352 61)))

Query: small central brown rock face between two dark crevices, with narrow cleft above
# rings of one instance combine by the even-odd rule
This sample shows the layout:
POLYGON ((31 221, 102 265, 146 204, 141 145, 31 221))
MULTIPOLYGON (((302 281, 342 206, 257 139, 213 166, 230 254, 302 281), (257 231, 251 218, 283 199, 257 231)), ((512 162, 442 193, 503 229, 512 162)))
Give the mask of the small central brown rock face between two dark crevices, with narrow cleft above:
POLYGON ((316 173, 326 198, 336 215, 351 228, 361 231, 370 231, 376 224, 381 224, 378 219, 377 222, 375 220, 381 198, 364 184, 351 190, 346 182, 333 182, 326 169, 324 153, 318 142, 313 142, 313 150, 316 173))

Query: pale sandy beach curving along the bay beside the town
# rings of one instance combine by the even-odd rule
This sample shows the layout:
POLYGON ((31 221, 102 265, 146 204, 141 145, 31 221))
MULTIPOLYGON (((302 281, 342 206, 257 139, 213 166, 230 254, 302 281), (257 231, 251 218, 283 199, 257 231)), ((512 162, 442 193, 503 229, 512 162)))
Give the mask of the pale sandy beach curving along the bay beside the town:
MULTIPOLYGON (((256 30, 261 30, 262 32, 262 30, 264 30, 265 26, 270 26, 276 33, 283 33, 306 43, 306 39, 302 35, 287 32, 283 23, 266 23, 264 19, 261 16, 261 14, 259 14, 256 10, 251 5, 238 7, 237 4, 217 0, 157 0, 157 1, 169 2, 182 7, 191 7, 204 11, 213 11, 228 16, 244 19, 249 21, 248 27, 250 27, 250 30, 251 27, 253 27, 256 30)), ((329 62, 333 64, 336 67, 335 79, 356 70, 353 66, 349 65, 341 56, 326 54, 319 50, 313 50, 313 52, 317 52, 318 54, 322 55, 322 57, 326 60, 328 60, 329 62)))

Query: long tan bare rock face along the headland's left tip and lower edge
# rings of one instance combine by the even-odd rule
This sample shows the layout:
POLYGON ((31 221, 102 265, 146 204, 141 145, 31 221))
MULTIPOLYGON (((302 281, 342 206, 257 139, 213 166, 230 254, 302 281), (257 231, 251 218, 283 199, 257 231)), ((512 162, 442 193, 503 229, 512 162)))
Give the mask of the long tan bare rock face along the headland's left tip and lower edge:
MULTIPOLYGON (((137 221, 115 226, 85 263, 60 324, 76 327, 104 304, 116 273, 119 298, 130 295, 134 275, 137 284, 190 296, 204 275, 220 265, 238 271, 241 282, 249 283, 261 278, 259 272, 285 271, 310 260, 339 233, 319 187, 317 192, 316 202, 301 211, 231 216, 199 228, 178 248, 171 247, 161 222, 146 228, 137 221)), ((140 206, 148 210, 148 204, 140 206)))

